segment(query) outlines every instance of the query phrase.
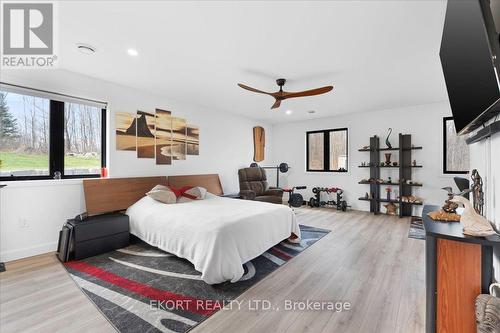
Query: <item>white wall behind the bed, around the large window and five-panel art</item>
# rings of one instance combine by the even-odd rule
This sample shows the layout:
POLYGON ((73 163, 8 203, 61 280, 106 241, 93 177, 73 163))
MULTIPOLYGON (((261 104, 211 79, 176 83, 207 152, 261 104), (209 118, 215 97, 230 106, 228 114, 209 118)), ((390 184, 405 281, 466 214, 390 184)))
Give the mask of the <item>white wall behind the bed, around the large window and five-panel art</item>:
MULTIPOLYGON (((252 127, 263 126, 267 142, 272 140, 271 128, 265 123, 68 71, 2 71, 1 77, 2 82, 108 102, 111 177, 218 173, 224 192, 237 192, 237 170, 248 166, 253 158, 252 127), (159 166, 154 159, 138 159, 135 152, 116 151, 114 112, 154 111, 155 108, 170 110, 175 116, 186 118, 188 123, 200 126, 199 156, 159 166)), ((267 160, 270 160, 269 153, 268 145, 267 160)), ((78 180, 16 182, 2 189, 0 200, 0 261, 55 250, 64 221, 85 210, 83 188, 78 180)))

